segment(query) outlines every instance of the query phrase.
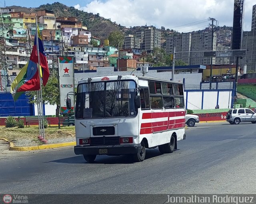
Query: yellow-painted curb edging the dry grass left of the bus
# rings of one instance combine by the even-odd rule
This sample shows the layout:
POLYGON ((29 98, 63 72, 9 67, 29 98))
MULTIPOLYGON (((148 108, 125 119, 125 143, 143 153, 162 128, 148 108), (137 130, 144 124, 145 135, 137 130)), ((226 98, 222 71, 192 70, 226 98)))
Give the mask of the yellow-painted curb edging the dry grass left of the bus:
POLYGON ((58 147, 67 147, 67 146, 75 146, 76 141, 73 142, 64 142, 64 143, 55 143, 55 144, 48 144, 48 145, 37 145, 37 146, 31 146, 31 147, 14 147, 14 143, 12 141, 9 141, 8 139, 0 137, 0 139, 9 142, 10 151, 31 151, 31 150, 40 150, 40 149, 52 149, 52 148, 58 148, 58 147))

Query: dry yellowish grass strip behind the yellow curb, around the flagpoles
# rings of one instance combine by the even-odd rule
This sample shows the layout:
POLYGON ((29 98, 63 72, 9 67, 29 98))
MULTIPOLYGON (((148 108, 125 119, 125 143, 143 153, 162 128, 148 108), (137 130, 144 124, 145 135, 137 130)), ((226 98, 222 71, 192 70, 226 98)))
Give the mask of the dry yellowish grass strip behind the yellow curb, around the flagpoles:
MULTIPOLYGON (((48 127, 44 129, 46 139, 52 138, 63 138, 63 137, 75 137, 75 127, 48 127)), ((9 139, 10 141, 15 141, 17 139, 37 139, 39 135, 38 127, 30 128, 5 128, 0 127, 0 137, 9 139)))

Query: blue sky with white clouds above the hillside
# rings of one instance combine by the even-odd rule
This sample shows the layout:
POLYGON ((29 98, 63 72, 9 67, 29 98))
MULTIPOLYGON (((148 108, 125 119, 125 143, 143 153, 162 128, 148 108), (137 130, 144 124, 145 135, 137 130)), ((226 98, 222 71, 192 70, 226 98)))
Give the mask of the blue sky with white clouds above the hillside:
MULTIPOLYGON (((6 6, 38 7, 44 0, 6 0, 6 6)), ((233 26, 234 0, 59 0, 67 6, 79 10, 99 13, 122 26, 155 26, 190 32, 204 29, 211 23, 207 19, 215 18, 219 26, 233 26), (196 23, 195 23, 196 22, 196 23)), ((244 0, 244 31, 251 30, 252 6, 255 0, 244 0)), ((0 6, 4 0, 0 0, 0 6)), ((214 22, 216 23, 216 22, 214 22)))

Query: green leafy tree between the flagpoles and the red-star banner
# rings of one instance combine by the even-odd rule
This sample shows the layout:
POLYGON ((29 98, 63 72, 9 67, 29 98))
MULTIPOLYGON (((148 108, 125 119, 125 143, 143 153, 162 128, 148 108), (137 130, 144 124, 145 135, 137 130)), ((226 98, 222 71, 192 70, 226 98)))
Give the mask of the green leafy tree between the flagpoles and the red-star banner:
MULTIPOLYGON (((36 104, 36 91, 26 92, 29 103, 36 104)), ((46 86, 42 86, 42 100, 44 104, 57 105, 56 116, 59 115, 60 98, 57 74, 51 74, 46 86)))

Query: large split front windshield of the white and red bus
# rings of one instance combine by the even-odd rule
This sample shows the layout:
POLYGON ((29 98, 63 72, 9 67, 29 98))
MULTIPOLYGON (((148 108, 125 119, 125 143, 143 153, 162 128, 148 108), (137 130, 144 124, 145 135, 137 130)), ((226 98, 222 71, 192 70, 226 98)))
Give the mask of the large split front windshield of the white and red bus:
POLYGON ((78 84, 76 118, 113 118, 136 116, 134 81, 78 84))

